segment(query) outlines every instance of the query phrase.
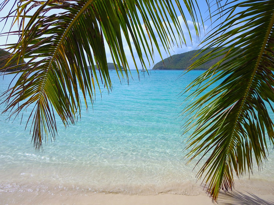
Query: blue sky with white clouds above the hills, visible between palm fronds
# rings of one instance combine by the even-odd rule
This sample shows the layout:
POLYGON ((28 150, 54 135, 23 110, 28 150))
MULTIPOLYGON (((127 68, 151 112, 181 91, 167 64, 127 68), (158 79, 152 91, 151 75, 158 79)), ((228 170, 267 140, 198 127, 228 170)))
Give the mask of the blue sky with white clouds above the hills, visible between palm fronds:
MULTIPOLYGON (((181 4, 183 5, 183 1, 180 1, 181 4)), ((8 7, 11 7, 12 4, 14 3, 13 0, 11 0, 8 4, 8 7)), ((212 3, 212 5, 214 4, 215 2, 212 3)), ((174 5, 176 5, 176 3, 174 2, 174 5)), ((199 1, 199 6, 200 6, 200 9, 201 9, 201 14, 202 14, 202 17, 203 19, 207 19, 208 17, 208 11, 207 11, 207 4, 206 4, 206 0, 203 0, 203 1, 199 1)), ((184 7, 183 7, 184 9, 184 7)), ((4 17, 5 15, 7 15, 8 13, 8 9, 4 9, 1 11, 1 17, 4 17)), ((186 11, 186 9, 184 9, 184 11, 186 11)), ((187 52, 187 51, 190 51, 190 50, 194 50, 194 49, 197 49, 199 48, 199 44, 200 44, 200 41, 199 39, 196 37, 196 33, 195 33, 195 30, 194 30, 194 26, 193 26, 193 22, 191 21, 191 18, 190 16, 188 15, 188 12, 186 11, 185 13, 186 15, 186 19, 188 20, 188 24, 189 24, 189 28, 190 28, 190 32, 191 32, 191 35, 192 35, 192 42, 190 40, 190 37, 188 36, 188 32, 185 32, 185 38, 186 38, 186 45, 182 45, 182 47, 179 45, 179 47, 177 47, 176 45, 175 46, 171 46, 170 47, 170 54, 166 53, 166 51, 164 50, 163 46, 161 46, 160 44, 160 51, 161 51, 161 54, 162 54, 162 58, 167 58, 169 57, 169 55, 174 55, 174 54, 180 54, 180 53, 183 53, 183 52, 187 52)), ((186 31, 186 26, 184 25, 184 22, 182 20, 182 17, 180 16, 180 13, 178 12, 178 16, 179 16, 179 20, 181 23, 181 26, 182 26, 182 29, 184 31, 186 31)), ((205 31, 206 33, 209 31, 208 28, 210 28, 210 24, 211 22, 210 21, 205 21, 204 23, 204 28, 205 28, 205 31)), ((0 22, 0 29, 2 30, 2 28, 4 27, 3 32, 7 32, 10 28, 10 25, 11 25, 11 20, 7 22, 6 26, 4 27, 4 22, 0 22)), ((201 22, 200 22, 200 27, 201 27, 201 34, 200 34, 200 40, 203 38, 203 36, 205 35, 204 33, 204 28, 203 26, 201 25, 201 22)), ((18 29, 18 26, 15 25, 13 27, 13 29, 18 29)), ((6 39, 1 37, 1 42, 0 42, 0 45, 3 45, 5 44, 6 42, 6 39)), ((8 43, 14 43, 17 41, 17 38, 15 36, 11 36, 8 38, 8 43)), ((107 44, 105 44, 107 45, 107 44)), ((4 48, 3 46, 1 46, 1 48, 4 48)), ((127 60, 128 60, 128 63, 130 65, 130 69, 134 69, 134 64, 133 64, 133 60, 132 60, 132 57, 130 55, 130 52, 127 52, 128 51, 128 46, 125 45, 124 46, 124 49, 126 51, 126 54, 127 54, 127 60)), ((135 53, 136 54, 136 53, 135 53)), ((108 59, 108 62, 112 62, 112 58, 111 58, 111 55, 110 55, 110 51, 108 48, 106 48, 106 56, 107 56, 107 59, 108 59)), ((137 58, 136 58, 137 60, 137 58)), ((154 52, 154 59, 150 59, 149 62, 148 61, 145 61, 146 62, 146 66, 148 69, 152 69, 153 67, 153 60, 154 60, 154 63, 156 64, 157 62, 161 61, 161 57, 160 57, 160 54, 155 50, 154 52)), ((141 63, 138 62, 137 60, 137 65, 138 67, 140 67, 141 69, 141 63)))

